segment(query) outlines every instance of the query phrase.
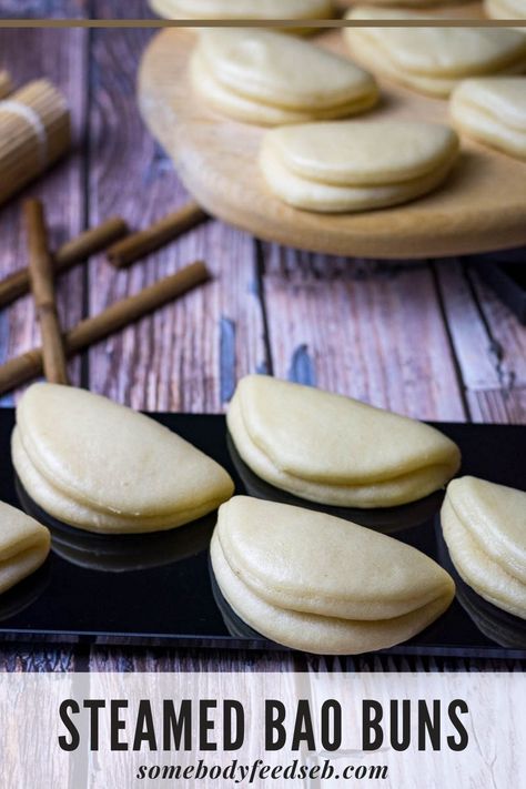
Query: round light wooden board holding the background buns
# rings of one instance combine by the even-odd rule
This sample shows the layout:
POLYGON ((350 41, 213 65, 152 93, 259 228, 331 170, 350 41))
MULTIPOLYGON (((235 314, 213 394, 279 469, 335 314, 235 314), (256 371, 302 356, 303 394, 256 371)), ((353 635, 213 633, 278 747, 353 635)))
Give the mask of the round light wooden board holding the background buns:
MULTIPOLYGON (((265 241, 358 257, 443 257, 526 244, 526 164, 467 140, 447 182, 414 203, 344 215, 284 205, 259 172, 264 130, 219 115, 191 90, 194 41, 194 33, 174 28, 152 39, 140 69, 139 101, 186 189, 212 215, 265 241)), ((318 41, 345 52, 340 30, 318 41)), ((382 105, 364 118, 447 118, 445 101, 391 82, 382 88, 382 105)))

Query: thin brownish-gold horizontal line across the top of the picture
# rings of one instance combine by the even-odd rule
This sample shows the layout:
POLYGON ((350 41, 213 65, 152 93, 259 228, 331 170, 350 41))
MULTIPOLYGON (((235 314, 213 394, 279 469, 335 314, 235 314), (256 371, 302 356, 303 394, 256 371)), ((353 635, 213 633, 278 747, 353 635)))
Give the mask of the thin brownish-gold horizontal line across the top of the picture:
POLYGON ((0 28, 526 28, 526 20, 505 19, 0 19, 0 28))

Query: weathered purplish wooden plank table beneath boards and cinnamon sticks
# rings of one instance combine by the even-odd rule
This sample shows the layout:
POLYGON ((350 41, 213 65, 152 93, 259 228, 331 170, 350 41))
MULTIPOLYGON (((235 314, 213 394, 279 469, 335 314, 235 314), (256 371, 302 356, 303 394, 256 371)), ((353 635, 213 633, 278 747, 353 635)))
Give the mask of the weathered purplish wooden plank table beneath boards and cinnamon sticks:
MULTIPOLYGON (((23 3, 2 3, 21 16, 23 3)), ((31 9, 34 3, 28 3, 31 9)), ((47 13, 114 18, 118 0, 47 3, 47 13)), ((129 0, 125 16, 144 14, 129 0)), ((42 196, 55 244, 110 214, 145 226, 186 200, 144 130, 135 72, 148 30, 2 30, 17 83, 45 74, 69 97, 74 154, 27 194, 42 196)), ((20 195, 22 199, 24 195, 20 195)), ((0 274, 24 263, 20 201, 0 210, 0 274)), ((220 412, 235 381, 265 371, 419 418, 524 423, 526 331, 462 261, 411 265, 297 253, 210 222, 130 271, 102 257, 60 280, 65 325, 203 257, 212 284, 71 364, 72 381, 135 408, 220 412)), ((0 315, 0 362, 38 341, 29 297, 0 315)), ((4 404, 12 403, 11 398, 4 404)), ((495 664, 487 664, 494 666, 495 664)), ((0 669, 245 671, 481 668, 481 662, 324 660, 290 654, 2 645, 0 669)), ((513 664, 500 664, 512 667, 513 664)))

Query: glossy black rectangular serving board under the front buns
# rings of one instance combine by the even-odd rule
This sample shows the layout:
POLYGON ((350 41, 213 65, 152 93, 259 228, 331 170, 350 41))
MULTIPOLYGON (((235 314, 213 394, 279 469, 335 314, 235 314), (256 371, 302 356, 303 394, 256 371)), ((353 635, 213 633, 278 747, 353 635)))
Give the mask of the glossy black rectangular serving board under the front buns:
MULTIPOLYGON (((227 441, 223 416, 156 414, 232 474, 236 493, 300 504, 262 483, 227 441)), ((0 409, 0 498, 52 530, 45 565, 0 597, 0 636, 10 639, 283 649, 247 628, 213 583, 209 542, 215 514, 146 536, 97 536, 45 518, 17 484, 10 459, 12 409, 0 409)), ((526 426, 437 425, 463 452, 463 474, 523 488, 526 426)), ((452 571, 439 529, 443 494, 388 510, 318 507, 414 545, 452 571)), ((526 623, 485 603, 466 585, 449 610, 393 655, 526 658, 526 623)))

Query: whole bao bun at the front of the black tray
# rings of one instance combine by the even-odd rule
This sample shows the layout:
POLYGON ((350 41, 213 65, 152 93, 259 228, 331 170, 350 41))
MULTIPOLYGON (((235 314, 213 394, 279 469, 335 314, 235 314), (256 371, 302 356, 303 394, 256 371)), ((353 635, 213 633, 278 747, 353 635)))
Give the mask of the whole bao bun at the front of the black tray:
POLYGON ((226 601, 266 638, 320 654, 407 640, 449 606, 448 574, 398 540, 300 507, 232 498, 211 558, 226 601))

